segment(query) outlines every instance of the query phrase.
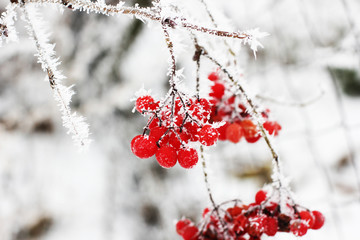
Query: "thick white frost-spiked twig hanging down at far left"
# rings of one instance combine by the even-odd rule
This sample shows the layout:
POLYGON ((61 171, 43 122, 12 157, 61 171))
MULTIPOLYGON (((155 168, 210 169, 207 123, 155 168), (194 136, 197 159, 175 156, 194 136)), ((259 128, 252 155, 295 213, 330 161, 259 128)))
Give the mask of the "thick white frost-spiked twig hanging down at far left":
POLYGON ((38 62, 48 75, 54 98, 60 107, 63 125, 68 129, 67 133, 72 134, 75 144, 83 149, 91 141, 89 139, 89 127, 82 116, 78 116, 71 111, 70 102, 74 91, 72 91, 72 87, 66 87, 61 83, 65 76, 57 69, 60 63, 55 56, 54 45, 49 44, 48 34, 43 31, 42 19, 35 9, 26 5, 22 6, 21 9, 23 18, 28 24, 28 33, 36 44, 38 62))

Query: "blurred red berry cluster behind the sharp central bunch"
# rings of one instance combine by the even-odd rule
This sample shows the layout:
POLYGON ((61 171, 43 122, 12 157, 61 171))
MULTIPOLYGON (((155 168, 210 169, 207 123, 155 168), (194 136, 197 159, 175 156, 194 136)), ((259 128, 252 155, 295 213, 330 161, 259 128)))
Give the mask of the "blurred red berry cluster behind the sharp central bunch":
MULTIPOLYGON (((238 143, 244 137, 249 143, 257 142, 261 134, 256 124, 251 121, 244 104, 239 102, 235 95, 226 92, 228 88, 225 88, 225 82, 220 79, 217 72, 210 73, 208 79, 214 82, 210 92, 212 97, 210 122, 225 121, 225 124, 218 129, 219 139, 238 143)), ((269 134, 277 136, 281 126, 275 121, 268 120, 269 110, 263 111, 261 114, 266 120, 264 128, 269 134)))

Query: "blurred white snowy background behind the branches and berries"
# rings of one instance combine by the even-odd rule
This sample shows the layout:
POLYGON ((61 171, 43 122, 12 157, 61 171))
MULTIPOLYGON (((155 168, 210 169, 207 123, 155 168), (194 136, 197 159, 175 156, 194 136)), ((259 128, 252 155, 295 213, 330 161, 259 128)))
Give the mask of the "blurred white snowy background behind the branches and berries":
MULTIPOLYGON (((1 0, 1 12, 7 2, 1 0)), ((208 22, 197 1, 178 2, 191 6, 194 19, 208 22)), ((297 201, 326 216, 323 229, 302 239, 356 238, 359 1, 208 4, 225 29, 230 23, 234 30, 259 27, 271 34, 262 40, 265 48, 256 60, 248 47, 241 49, 239 60, 258 101, 283 127, 274 140, 297 201)), ((66 135, 49 84, 43 81, 45 74, 33 56, 34 43, 19 20, 19 43, 0 48, 0 239, 180 239, 174 221, 182 216, 198 220, 209 206, 200 164, 192 170, 165 170, 153 158, 137 159, 129 147, 145 124, 140 114, 131 112, 130 99, 143 85, 158 97, 167 90, 168 52, 161 29, 128 17, 40 9, 66 83, 76 84, 72 107, 87 118, 94 142, 87 153, 78 153, 66 135)), ((185 48, 178 62, 185 67, 184 84, 191 90, 192 51, 185 48)), ((203 80, 213 70, 205 64, 203 80)), ((208 154, 217 202, 252 201, 270 182, 271 159, 263 141, 221 142, 208 154)), ((295 237, 280 234, 276 239, 295 237)))

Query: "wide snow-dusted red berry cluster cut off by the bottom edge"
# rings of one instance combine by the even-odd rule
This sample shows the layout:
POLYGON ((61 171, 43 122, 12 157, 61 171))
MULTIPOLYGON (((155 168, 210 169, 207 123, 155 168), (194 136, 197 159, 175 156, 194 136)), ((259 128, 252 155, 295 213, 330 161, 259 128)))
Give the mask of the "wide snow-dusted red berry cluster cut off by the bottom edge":
POLYGON ((189 219, 179 220, 177 233, 184 240, 260 240, 263 234, 275 236, 277 232, 303 236, 308 229, 320 229, 325 221, 319 211, 309 211, 296 204, 287 203, 285 213, 263 190, 257 192, 254 203, 234 203, 226 210, 206 208, 199 227, 189 219))

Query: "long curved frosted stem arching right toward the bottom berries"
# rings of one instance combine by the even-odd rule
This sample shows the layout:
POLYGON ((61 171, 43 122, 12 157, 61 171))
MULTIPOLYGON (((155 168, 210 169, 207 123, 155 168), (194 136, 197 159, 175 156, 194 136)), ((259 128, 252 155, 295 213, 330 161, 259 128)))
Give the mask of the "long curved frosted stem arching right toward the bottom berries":
POLYGON ((263 138, 266 142, 266 145, 268 146, 268 148, 271 152, 271 155, 273 158, 273 163, 275 166, 274 167, 274 177, 275 177, 274 182, 277 182, 279 184, 278 187, 282 188, 284 186, 284 184, 282 182, 282 173, 281 173, 281 167, 280 167, 280 162, 279 162, 279 155, 275 151, 275 148, 273 147, 273 144, 270 141, 269 134, 265 130, 263 123, 260 121, 261 117, 260 117, 258 110, 256 109, 256 106, 255 106, 253 100, 249 97, 249 95, 247 94, 247 92, 245 91, 243 86, 238 81, 236 81, 235 78, 230 74, 230 72, 225 67, 223 67, 215 58, 210 56, 207 52, 204 52, 204 56, 207 57, 209 60, 211 60, 213 63, 215 63, 221 69, 221 71, 226 74, 226 76, 231 81, 231 83, 234 86, 236 86, 236 88, 244 96, 244 98, 250 108, 250 115, 256 121, 256 124, 261 132, 261 135, 263 136, 263 138))

